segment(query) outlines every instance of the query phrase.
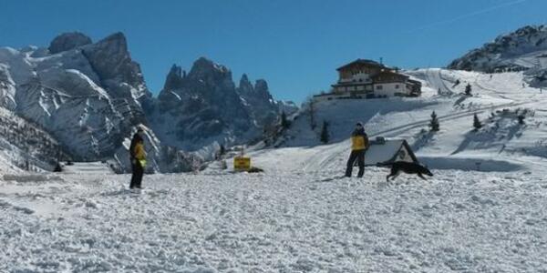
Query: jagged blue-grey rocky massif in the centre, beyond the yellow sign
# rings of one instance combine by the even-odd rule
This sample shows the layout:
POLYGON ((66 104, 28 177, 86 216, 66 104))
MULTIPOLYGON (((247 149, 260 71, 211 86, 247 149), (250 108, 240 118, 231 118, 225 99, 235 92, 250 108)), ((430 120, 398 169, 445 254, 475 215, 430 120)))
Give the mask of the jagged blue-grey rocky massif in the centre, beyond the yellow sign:
POLYGON ((236 86, 229 68, 201 57, 188 74, 171 67, 150 126, 170 146, 195 151, 251 141, 279 114, 265 80, 243 75, 236 86))

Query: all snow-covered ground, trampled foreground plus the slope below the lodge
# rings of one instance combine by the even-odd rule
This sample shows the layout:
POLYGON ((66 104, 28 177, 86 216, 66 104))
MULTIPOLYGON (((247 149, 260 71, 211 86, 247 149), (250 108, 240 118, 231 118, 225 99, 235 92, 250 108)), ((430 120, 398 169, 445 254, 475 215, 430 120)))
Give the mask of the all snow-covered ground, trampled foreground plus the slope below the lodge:
POLYGON ((5 175, 0 272, 547 272, 547 94, 520 73, 408 73, 424 96, 320 102, 315 131, 301 114, 281 147, 251 147, 263 173, 147 175, 141 194, 98 163, 5 175), (407 139, 435 176, 338 178, 356 121, 407 139))

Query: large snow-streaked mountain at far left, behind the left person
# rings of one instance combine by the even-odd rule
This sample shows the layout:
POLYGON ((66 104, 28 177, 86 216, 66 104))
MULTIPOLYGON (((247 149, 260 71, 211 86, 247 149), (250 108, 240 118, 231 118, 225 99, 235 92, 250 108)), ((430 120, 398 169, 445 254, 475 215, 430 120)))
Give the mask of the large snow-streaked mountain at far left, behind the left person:
MULTIPOLYGON (((97 43, 68 33, 48 48, 2 47, 0 91, 0 106, 42 126, 75 160, 126 162, 123 143, 135 126, 147 124, 143 107, 153 104, 121 33, 97 43)), ((149 136, 152 168, 169 170, 160 162, 173 158, 165 158, 153 132, 149 136)), ((127 167, 126 162, 119 169, 127 167)))

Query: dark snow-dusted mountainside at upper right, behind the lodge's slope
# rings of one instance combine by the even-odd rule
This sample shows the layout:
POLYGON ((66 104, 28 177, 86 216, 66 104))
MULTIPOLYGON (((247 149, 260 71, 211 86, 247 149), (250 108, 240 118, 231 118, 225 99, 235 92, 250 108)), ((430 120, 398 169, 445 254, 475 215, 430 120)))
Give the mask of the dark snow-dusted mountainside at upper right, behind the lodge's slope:
POLYGON ((547 86, 547 25, 527 25, 500 35, 453 60, 448 68, 489 73, 526 70, 532 86, 547 86))

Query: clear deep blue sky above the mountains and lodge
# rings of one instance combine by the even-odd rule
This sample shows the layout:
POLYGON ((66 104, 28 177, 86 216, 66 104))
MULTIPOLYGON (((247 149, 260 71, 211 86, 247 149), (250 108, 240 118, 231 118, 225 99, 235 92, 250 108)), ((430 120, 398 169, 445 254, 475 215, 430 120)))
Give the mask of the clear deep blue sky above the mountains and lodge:
POLYGON ((0 46, 49 45, 80 31, 121 31, 154 94, 169 68, 200 56, 265 78, 276 98, 327 90, 356 58, 405 68, 450 60, 523 25, 546 24, 544 0, 2 0, 0 46))

